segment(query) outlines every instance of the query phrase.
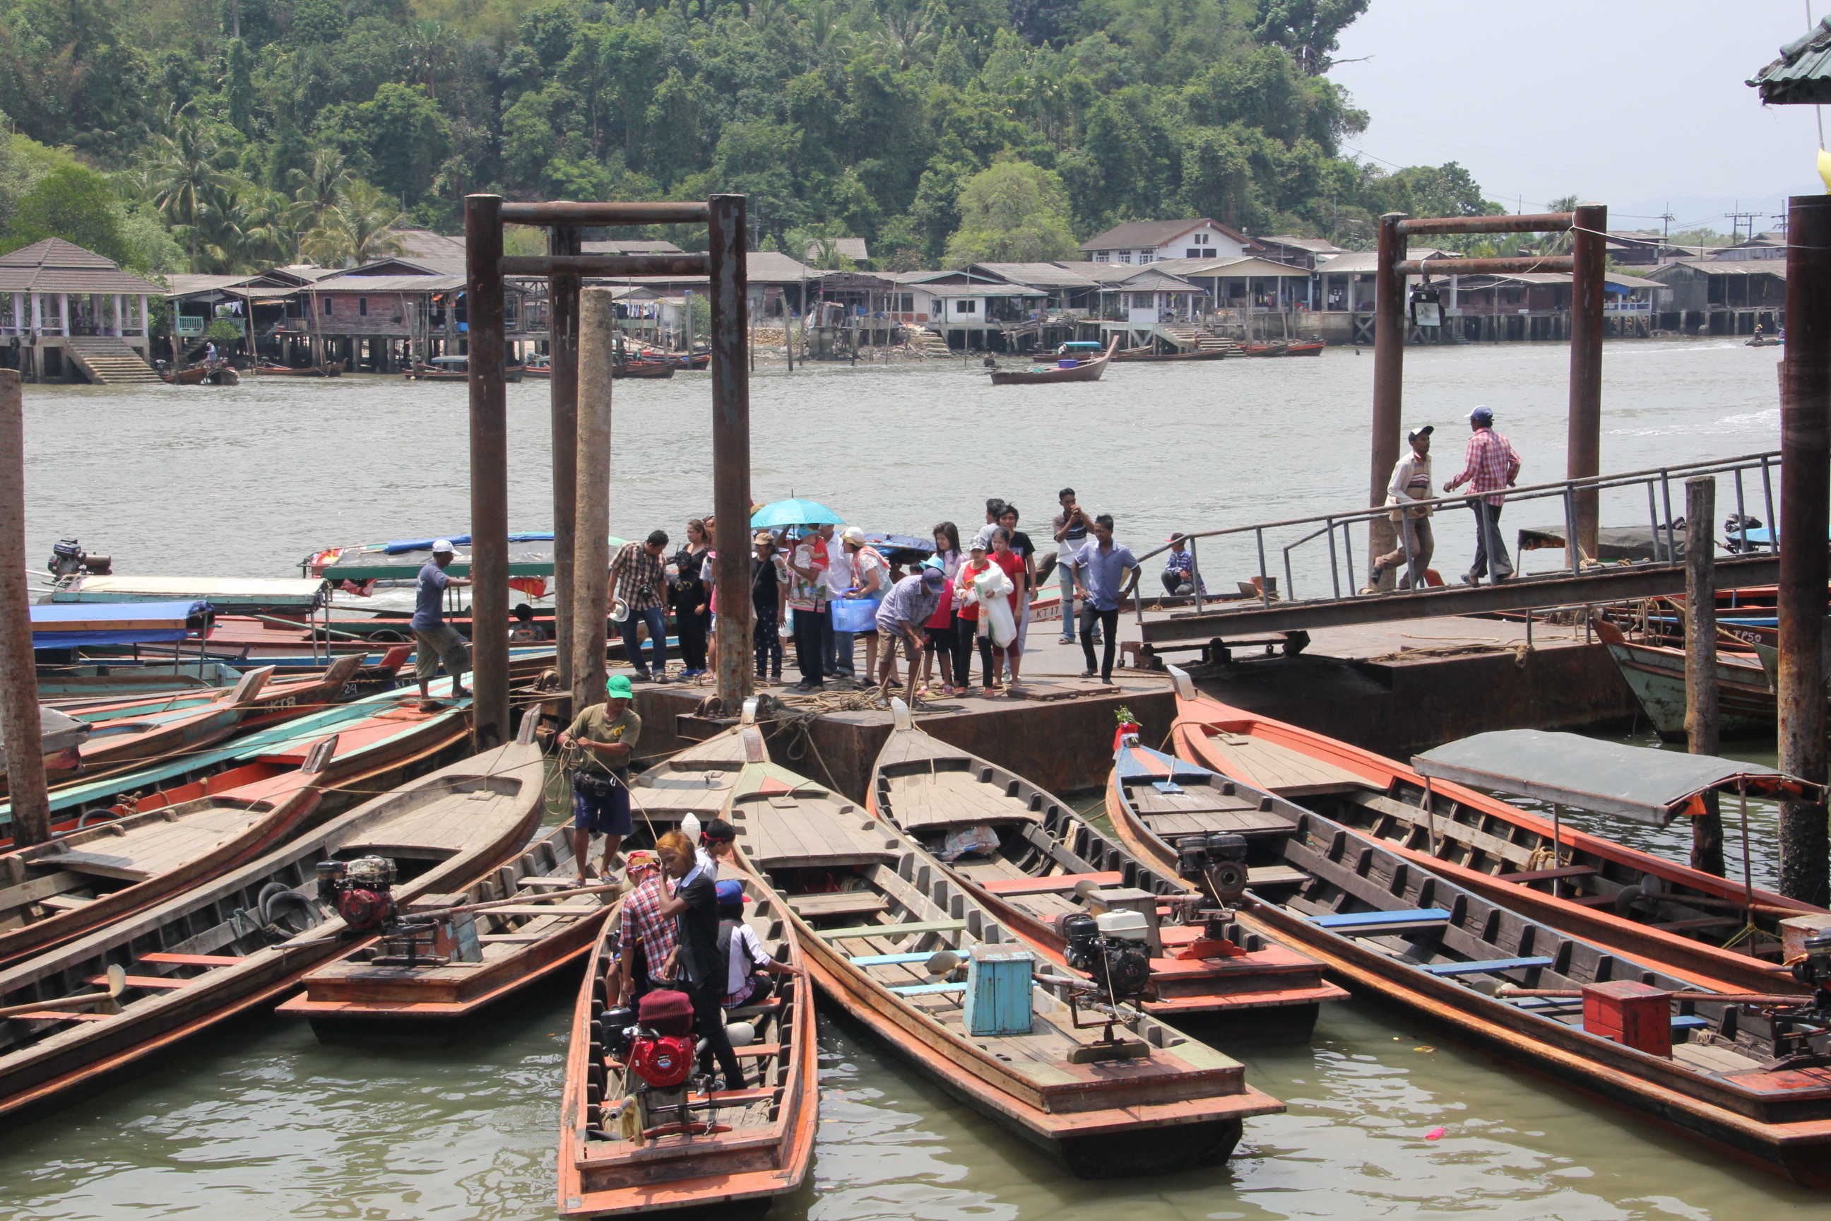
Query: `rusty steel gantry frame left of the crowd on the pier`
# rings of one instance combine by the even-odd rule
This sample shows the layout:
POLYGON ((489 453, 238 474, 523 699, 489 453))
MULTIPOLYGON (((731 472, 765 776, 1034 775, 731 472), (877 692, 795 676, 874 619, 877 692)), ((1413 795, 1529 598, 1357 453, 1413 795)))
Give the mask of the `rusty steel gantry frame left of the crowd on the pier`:
MULTIPOLYGON (((718 564, 718 694, 727 708, 751 690, 751 373, 745 328, 745 198, 705 203, 505 203, 465 196, 465 265, 471 328, 471 575, 472 743, 513 738, 509 725, 509 467, 502 282, 546 276, 553 364, 553 584, 562 608, 555 650, 571 686, 571 635, 579 459, 579 291, 582 276, 707 276, 712 304, 712 511, 718 564), (580 227, 707 227, 703 254, 580 254, 580 227), (504 225, 547 229, 547 253, 505 256, 504 225)), ((599 577, 604 580, 606 577, 599 577)))

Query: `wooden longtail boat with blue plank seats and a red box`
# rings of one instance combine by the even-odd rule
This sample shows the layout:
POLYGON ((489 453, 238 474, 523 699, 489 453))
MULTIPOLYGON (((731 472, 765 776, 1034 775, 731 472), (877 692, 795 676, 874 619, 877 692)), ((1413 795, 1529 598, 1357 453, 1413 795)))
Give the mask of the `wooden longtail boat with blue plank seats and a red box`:
POLYGON ((1831 1014, 1811 1012, 1809 998, 1798 998, 1804 1009, 1743 1003, 1739 987, 1571 937, 1322 815, 1143 747, 1137 734, 1119 736, 1106 809, 1119 838, 1159 868, 1174 866, 1181 835, 1243 835, 1251 864, 1287 873, 1249 893, 1241 923, 1320 957, 1349 989, 1831 1188, 1831 1014), (1549 996, 1503 994, 1520 987, 1549 996))

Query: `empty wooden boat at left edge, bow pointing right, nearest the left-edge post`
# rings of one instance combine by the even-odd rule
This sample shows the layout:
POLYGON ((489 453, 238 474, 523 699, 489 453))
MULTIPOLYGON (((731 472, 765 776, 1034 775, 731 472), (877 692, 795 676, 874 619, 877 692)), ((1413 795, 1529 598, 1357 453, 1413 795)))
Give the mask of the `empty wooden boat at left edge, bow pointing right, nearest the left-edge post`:
POLYGON ((205 882, 291 835, 337 738, 278 776, 0 853, 0 961, 70 941, 205 882))

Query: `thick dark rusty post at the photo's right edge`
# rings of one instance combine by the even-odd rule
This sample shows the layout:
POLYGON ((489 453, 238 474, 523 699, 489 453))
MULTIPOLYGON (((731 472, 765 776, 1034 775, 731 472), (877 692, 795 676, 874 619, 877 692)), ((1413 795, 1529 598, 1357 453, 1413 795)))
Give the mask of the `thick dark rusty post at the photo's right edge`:
MULTIPOLYGON (((1780 364, 1780 771, 1826 782, 1826 518, 1831 500, 1831 196, 1787 207, 1780 364)), ((1780 893, 1826 906, 1824 804, 1780 805, 1780 893)))

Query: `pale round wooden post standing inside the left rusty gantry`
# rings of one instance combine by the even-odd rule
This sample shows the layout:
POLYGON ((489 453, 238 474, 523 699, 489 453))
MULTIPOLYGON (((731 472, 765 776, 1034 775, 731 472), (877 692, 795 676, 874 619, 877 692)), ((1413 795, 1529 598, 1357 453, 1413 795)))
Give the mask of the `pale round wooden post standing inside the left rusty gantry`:
POLYGON ((604 617, 610 613, 610 368, 617 359, 615 344, 617 309, 610 289, 584 289, 579 297, 579 465, 573 478, 575 714, 604 697, 604 617))

